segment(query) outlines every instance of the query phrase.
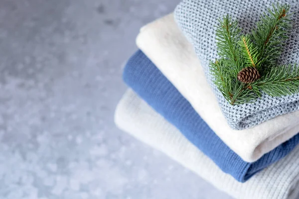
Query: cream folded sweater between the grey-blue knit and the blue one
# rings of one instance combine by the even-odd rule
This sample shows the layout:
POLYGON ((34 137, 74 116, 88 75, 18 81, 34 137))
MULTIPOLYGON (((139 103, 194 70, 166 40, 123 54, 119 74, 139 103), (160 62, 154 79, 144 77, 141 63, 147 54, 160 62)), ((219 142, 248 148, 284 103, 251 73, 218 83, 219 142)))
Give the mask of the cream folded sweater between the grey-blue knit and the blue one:
POLYGON ((248 129, 230 128, 201 63, 177 27, 173 14, 141 28, 136 41, 201 118, 243 160, 254 162, 299 132, 299 111, 277 116, 248 129))

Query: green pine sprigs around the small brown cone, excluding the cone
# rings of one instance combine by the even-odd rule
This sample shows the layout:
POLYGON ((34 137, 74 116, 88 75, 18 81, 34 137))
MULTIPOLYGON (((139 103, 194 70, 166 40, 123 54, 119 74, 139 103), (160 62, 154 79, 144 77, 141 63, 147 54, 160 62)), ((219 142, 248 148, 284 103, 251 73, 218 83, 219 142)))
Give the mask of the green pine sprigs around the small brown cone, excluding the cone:
POLYGON ((298 65, 277 65, 292 28, 289 10, 288 4, 273 5, 247 35, 228 15, 219 20, 216 38, 221 59, 210 62, 210 68, 215 85, 231 104, 254 102, 262 93, 273 97, 299 93, 298 65), (261 78, 250 84, 238 81, 238 73, 246 67, 256 67, 261 78))

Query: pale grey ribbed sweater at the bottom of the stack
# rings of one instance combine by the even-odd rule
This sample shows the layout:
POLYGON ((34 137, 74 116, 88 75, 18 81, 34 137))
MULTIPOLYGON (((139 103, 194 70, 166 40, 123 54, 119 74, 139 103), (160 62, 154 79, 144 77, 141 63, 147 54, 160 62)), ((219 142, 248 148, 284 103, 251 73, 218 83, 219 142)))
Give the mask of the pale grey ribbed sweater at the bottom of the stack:
POLYGON ((246 183, 239 183, 223 173, 132 90, 119 102, 115 122, 122 130, 162 151, 236 199, 296 199, 298 196, 299 147, 246 183))

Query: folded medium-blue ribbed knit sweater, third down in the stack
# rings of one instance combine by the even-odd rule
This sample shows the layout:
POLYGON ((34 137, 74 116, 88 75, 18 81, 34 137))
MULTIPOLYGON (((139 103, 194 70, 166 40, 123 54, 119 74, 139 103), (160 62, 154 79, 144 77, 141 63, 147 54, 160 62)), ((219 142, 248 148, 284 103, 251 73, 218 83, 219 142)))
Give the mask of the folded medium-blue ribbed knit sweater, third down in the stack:
MULTIPOLYGON (((211 158, 225 173, 245 182, 257 172, 286 156, 299 142, 299 135, 265 154, 254 163, 243 161, 201 119, 190 103, 162 75, 142 51, 128 61, 124 81, 158 113, 211 158)), ((217 121, 215 121, 217 122, 217 121)))

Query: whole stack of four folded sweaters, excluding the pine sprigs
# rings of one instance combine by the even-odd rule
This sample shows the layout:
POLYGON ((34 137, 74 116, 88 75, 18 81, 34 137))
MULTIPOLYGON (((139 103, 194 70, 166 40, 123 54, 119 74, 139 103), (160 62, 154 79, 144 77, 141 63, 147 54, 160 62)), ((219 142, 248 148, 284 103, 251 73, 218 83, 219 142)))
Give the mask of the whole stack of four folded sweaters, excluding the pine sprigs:
MULTIPOLYGON (((140 48, 123 78, 119 128, 166 153, 215 187, 240 199, 296 199, 299 194, 299 95, 263 95, 229 104, 209 60, 217 58, 215 25, 225 14, 250 29, 272 0, 183 0, 174 13, 141 28, 140 48)), ((291 38, 299 40, 299 3, 291 38)), ((289 42, 282 62, 299 62, 289 42)))

